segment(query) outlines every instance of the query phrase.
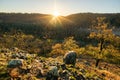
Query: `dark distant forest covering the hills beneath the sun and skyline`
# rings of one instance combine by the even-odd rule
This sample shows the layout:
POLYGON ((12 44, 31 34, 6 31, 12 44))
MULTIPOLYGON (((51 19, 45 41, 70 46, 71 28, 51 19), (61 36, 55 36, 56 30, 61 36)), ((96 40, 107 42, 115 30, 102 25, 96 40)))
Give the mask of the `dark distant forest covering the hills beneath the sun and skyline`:
POLYGON ((0 13, 0 34, 23 32, 58 41, 73 36, 77 41, 85 41, 97 17, 106 17, 109 28, 120 29, 120 13, 78 13, 60 16, 56 20, 48 14, 0 13))

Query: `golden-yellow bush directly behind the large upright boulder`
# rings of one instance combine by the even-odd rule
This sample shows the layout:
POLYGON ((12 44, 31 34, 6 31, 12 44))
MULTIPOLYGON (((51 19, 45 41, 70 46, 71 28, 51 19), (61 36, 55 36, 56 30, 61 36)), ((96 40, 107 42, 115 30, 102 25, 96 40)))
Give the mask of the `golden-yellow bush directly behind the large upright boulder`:
POLYGON ((79 46, 73 37, 68 37, 63 41, 63 43, 57 43, 52 46, 51 54, 64 55, 68 51, 76 51, 77 53, 80 51, 79 46))

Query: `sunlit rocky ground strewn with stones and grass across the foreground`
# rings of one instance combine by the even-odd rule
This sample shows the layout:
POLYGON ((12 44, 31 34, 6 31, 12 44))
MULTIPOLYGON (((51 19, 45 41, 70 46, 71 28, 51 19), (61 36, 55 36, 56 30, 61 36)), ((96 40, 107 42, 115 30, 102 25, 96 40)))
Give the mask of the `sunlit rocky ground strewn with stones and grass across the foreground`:
POLYGON ((101 62, 88 55, 75 66, 64 64, 63 56, 42 57, 18 48, 0 49, 0 80, 120 80, 120 65, 101 62))

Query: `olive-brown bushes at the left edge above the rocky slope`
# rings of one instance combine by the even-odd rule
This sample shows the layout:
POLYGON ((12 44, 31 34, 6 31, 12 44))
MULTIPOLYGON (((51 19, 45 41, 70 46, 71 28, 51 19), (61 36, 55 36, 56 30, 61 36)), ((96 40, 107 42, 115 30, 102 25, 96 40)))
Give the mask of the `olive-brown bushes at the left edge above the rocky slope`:
POLYGON ((41 40, 36 39, 32 35, 25 35, 24 33, 6 33, 1 38, 0 46, 6 48, 18 47, 30 53, 38 53, 40 52, 39 45, 41 42, 41 40))

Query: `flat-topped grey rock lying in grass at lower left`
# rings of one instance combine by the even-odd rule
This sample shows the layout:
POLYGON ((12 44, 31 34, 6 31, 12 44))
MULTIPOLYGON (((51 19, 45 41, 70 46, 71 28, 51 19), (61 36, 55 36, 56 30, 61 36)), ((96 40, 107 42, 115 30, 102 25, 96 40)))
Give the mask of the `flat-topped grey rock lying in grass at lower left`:
POLYGON ((10 60, 9 62, 8 62, 8 65, 7 65, 7 67, 8 68, 16 68, 16 67, 20 67, 20 66, 22 66, 23 65, 23 63, 22 63, 22 60, 20 60, 20 59, 14 59, 14 60, 10 60))

